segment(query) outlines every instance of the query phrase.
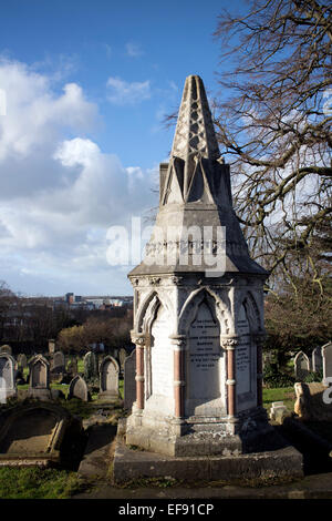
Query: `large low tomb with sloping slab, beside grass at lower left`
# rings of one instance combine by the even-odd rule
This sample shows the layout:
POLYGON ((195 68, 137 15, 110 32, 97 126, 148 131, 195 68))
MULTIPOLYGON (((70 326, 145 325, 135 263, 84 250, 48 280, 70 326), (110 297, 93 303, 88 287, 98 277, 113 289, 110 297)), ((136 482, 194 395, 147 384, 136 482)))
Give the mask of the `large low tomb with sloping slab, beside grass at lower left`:
POLYGON ((52 402, 7 409, 0 426, 0 466, 59 464, 82 433, 82 420, 52 402))

